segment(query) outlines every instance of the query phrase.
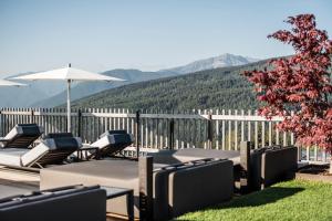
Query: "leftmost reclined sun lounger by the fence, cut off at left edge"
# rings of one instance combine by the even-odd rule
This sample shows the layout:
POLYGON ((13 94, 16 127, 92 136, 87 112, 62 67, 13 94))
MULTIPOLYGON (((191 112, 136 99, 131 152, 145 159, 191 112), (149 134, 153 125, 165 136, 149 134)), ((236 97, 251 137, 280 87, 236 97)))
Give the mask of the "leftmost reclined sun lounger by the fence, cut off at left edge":
POLYGON ((37 124, 18 124, 6 137, 0 138, 1 148, 28 148, 44 133, 37 124))

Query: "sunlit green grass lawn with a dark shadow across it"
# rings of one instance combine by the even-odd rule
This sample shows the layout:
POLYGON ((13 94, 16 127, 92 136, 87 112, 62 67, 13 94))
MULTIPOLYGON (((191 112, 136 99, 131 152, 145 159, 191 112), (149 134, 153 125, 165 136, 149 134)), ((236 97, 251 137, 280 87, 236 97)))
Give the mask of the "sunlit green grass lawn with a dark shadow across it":
POLYGON ((280 182, 177 220, 332 221, 332 185, 302 180, 280 182))

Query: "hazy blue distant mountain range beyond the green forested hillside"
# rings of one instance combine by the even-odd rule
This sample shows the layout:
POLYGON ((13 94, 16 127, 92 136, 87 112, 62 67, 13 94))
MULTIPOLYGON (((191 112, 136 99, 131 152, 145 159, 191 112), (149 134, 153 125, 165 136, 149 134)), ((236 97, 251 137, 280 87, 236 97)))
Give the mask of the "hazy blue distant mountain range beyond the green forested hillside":
MULTIPOLYGON (((246 62, 252 62, 255 59, 243 57, 239 55, 232 54, 221 54, 219 56, 209 57, 206 60, 197 60, 191 63, 197 64, 196 67, 186 67, 187 65, 173 67, 169 70, 159 70, 157 72, 143 72, 141 70, 133 70, 133 69, 115 69, 111 71, 102 72, 102 74, 108 76, 115 76, 120 78, 127 80, 126 82, 113 82, 113 83, 105 83, 105 82, 80 82, 74 83, 72 85, 72 101, 82 98, 84 96, 90 96, 95 93, 100 93, 104 90, 110 90, 114 87, 118 87, 126 84, 133 84, 137 82, 145 82, 156 78, 164 78, 169 76, 177 76, 183 74, 195 73, 197 70, 201 71, 201 69, 215 69, 216 66, 220 65, 220 57, 228 59, 229 61, 225 61, 226 65, 237 65, 242 64, 246 62), (215 59, 215 60, 212 60, 215 59), (216 62, 218 64, 206 64, 207 60, 210 62, 216 62), (238 61, 237 61, 238 60, 238 61), (199 63, 205 63, 205 65, 199 65, 199 63)), ((189 64, 191 64, 189 63, 189 64)), ((35 72, 29 72, 35 73, 35 72)), ((27 73, 24 73, 27 74, 27 73)), ((15 74, 13 76, 23 75, 23 74, 15 74)), ((10 76, 10 77, 13 77, 10 76)), ((8 78, 10 78, 8 77, 8 78)), ((22 82, 22 81, 20 81, 22 82)), ((14 90, 14 88, 0 88, 2 95, 0 96, 1 103, 0 106, 7 107, 53 107, 59 106, 65 103, 65 84, 63 82, 46 82, 46 81, 35 81, 35 82, 27 82, 30 84, 29 87, 24 90, 14 90), (8 95, 6 92, 10 91, 11 93, 8 95), (11 95, 19 96, 20 98, 14 99, 11 95), (37 96, 38 95, 38 96, 37 96)), ((14 96, 14 97, 15 97, 14 96)))

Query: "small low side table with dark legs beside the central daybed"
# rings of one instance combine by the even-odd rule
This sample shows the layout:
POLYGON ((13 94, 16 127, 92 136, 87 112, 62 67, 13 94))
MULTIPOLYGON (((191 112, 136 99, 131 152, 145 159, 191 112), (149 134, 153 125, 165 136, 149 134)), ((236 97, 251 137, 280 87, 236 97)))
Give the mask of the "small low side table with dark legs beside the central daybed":
POLYGON ((134 221, 134 190, 133 189, 118 188, 118 187, 105 187, 105 186, 101 186, 101 189, 106 190, 107 200, 126 196, 128 220, 134 221))

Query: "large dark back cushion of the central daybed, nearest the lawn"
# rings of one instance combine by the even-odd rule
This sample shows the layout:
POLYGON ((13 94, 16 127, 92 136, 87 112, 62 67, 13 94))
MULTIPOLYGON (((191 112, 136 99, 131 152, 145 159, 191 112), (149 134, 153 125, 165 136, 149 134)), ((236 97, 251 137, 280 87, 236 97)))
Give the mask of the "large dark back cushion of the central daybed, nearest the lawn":
POLYGON ((170 218, 231 199, 232 167, 232 161, 220 160, 170 172, 168 180, 170 218))

